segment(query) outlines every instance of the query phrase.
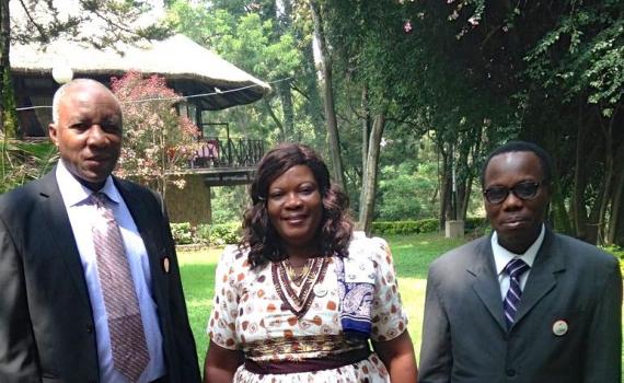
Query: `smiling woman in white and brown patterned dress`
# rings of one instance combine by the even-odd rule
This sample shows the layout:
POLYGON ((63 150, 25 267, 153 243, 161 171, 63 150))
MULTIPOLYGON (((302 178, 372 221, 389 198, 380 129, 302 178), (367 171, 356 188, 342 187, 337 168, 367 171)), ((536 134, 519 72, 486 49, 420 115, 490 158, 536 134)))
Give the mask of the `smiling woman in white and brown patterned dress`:
POLYGON ((354 233, 319 155, 270 150, 251 198, 217 267, 205 382, 416 382, 390 248, 354 233))

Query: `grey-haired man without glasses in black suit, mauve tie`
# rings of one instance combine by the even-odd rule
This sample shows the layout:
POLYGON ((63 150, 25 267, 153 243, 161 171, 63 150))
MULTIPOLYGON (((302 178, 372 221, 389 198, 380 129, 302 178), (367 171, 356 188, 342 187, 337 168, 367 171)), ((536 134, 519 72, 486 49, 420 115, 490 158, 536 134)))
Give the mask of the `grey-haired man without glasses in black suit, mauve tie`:
POLYGON ((111 176, 117 100, 74 80, 53 114, 58 165, 0 196, 0 382, 199 382, 163 201, 111 176))

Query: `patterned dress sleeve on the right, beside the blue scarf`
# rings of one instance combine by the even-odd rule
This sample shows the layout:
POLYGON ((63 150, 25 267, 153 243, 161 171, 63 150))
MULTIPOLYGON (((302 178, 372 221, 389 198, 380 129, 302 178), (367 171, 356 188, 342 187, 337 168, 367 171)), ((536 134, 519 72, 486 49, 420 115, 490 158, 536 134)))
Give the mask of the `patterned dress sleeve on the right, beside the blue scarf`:
POLYGON ((403 310, 392 253, 388 243, 373 237, 370 248, 375 267, 374 298, 372 302, 372 334, 374 341, 391 340, 407 328, 407 313, 403 310))

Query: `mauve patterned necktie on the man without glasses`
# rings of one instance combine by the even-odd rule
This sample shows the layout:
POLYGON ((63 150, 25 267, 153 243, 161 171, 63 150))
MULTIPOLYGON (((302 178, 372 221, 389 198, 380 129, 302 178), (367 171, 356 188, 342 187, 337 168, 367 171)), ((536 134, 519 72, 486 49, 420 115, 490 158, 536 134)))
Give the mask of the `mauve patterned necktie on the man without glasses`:
POLYGON ((130 382, 136 382, 148 365, 150 356, 130 265, 108 197, 94 193, 91 200, 101 216, 93 227, 93 244, 108 318, 113 365, 130 382))

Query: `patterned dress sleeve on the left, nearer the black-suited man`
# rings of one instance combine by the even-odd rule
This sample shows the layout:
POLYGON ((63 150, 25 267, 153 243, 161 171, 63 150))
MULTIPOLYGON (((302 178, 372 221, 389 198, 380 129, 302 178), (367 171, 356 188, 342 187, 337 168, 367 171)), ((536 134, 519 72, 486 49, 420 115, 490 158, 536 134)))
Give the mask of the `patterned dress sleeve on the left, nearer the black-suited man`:
POLYGON ((235 246, 226 247, 215 276, 215 299, 206 332, 210 339, 227 349, 238 349, 236 316, 239 297, 235 285, 235 260, 240 256, 235 246))

